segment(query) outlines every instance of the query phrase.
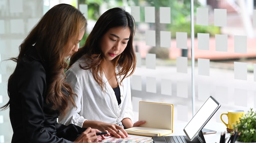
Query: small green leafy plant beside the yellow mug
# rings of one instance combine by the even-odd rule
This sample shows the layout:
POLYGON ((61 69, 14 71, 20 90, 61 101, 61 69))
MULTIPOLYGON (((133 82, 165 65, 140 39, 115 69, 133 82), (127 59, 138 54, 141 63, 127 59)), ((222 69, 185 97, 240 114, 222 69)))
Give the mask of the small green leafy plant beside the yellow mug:
POLYGON ((255 143, 256 142, 256 111, 251 108, 245 115, 239 118, 234 129, 240 132, 236 143, 255 143))

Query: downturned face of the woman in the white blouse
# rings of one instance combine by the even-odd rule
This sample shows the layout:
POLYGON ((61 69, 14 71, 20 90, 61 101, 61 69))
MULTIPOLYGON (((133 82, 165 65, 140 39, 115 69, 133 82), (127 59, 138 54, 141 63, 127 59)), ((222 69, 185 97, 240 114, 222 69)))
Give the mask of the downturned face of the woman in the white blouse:
POLYGON ((101 52, 104 57, 111 61, 124 52, 130 37, 128 27, 116 27, 108 30, 101 39, 101 52))

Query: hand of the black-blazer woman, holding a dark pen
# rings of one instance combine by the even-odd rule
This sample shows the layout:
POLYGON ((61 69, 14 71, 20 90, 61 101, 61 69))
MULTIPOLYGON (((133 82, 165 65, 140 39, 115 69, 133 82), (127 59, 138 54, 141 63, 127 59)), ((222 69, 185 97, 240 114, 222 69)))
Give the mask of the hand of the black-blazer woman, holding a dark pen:
POLYGON ((96 132, 94 129, 88 127, 79 137, 76 138, 74 143, 99 143, 97 141, 96 132))

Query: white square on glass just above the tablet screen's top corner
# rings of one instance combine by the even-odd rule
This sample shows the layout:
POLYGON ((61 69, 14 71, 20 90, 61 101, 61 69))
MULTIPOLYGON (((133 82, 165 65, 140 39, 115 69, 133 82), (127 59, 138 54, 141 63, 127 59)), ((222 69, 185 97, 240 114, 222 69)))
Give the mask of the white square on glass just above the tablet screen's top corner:
POLYGON ((210 85, 205 83, 198 84, 198 100, 206 101, 210 95, 210 85))

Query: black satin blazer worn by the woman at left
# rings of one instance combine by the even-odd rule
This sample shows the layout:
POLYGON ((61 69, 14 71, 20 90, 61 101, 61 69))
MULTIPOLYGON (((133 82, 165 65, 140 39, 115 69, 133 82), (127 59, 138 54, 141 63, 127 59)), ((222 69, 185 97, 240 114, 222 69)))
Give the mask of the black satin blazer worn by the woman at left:
POLYGON ((17 63, 8 83, 12 143, 71 143, 86 129, 57 123, 58 111, 45 101, 46 78, 45 68, 32 47, 17 63))

